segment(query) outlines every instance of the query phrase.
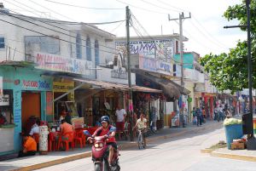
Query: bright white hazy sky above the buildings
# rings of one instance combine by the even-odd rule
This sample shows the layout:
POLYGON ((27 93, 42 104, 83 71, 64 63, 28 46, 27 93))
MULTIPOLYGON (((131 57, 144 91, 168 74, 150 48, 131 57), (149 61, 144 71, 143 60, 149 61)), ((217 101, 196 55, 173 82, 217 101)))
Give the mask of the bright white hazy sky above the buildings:
MULTIPOLYGON (((201 56, 220 54, 235 48, 239 39, 245 40, 247 33, 236 26, 237 20, 228 21, 223 14, 229 6, 241 0, 0 0, 11 12, 40 16, 55 20, 84 23, 103 23, 125 20, 125 7, 132 14, 131 36, 153 36, 179 33, 178 23, 168 20, 178 18, 179 13, 190 19, 183 20, 185 51, 194 51, 201 56), (60 4, 65 3, 65 4, 60 4)), ((100 29, 125 37, 125 21, 97 25, 100 29)))

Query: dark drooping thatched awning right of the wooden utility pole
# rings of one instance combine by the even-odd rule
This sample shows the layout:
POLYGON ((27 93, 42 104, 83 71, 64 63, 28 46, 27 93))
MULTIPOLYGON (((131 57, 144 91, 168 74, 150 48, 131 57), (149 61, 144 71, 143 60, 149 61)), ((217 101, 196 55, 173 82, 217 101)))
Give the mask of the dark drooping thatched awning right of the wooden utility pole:
POLYGON ((157 77, 146 72, 137 74, 139 74, 141 77, 145 77, 151 82, 159 84, 163 90, 163 93, 167 94, 170 98, 178 99, 181 94, 190 94, 190 91, 188 89, 183 88, 182 86, 174 83, 172 80, 169 80, 165 77, 157 77))

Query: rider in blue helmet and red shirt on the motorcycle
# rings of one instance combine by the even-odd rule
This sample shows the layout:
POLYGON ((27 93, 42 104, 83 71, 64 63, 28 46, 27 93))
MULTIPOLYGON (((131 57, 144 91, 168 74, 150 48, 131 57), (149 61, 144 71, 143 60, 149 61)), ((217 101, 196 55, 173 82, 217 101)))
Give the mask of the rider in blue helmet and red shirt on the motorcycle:
MULTIPOLYGON (((108 134, 110 128, 113 128, 113 126, 109 124, 109 117, 108 116, 103 116, 101 118, 101 123, 102 123, 102 127, 97 128, 95 133, 92 134, 92 137, 103 136, 103 135, 108 137, 108 139, 107 139, 107 145, 108 145, 108 151, 109 151, 108 163, 109 163, 109 165, 112 165, 111 161, 112 161, 112 157, 113 157, 113 151, 117 150, 117 143, 116 143, 116 140, 114 138, 115 131, 108 134)), ((88 140, 91 140, 91 137, 89 137, 88 140)))

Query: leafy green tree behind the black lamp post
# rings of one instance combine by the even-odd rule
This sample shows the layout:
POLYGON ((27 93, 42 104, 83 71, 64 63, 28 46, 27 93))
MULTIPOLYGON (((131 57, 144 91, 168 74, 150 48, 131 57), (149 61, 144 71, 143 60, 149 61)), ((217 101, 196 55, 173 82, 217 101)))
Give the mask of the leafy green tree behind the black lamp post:
MULTIPOLYGON (((225 12, 227 20, 239 20, 240 25, 247 25, 247 9, 245 1, 241 4, 230 6, 225 12)), ((253 62, 253 88, 256 88, 256 1, 251 1, 251 37, 252 37, 252 62, 253 62)), ((247 27, 241 27, 247 31, 247 27)), ((201 65, 210 77, 212 85, 219 90, 236 90, 247 88, 247 41, 239 40, 236 48, 230 48, 228 54, 207 54, 201 58, 201 65)))

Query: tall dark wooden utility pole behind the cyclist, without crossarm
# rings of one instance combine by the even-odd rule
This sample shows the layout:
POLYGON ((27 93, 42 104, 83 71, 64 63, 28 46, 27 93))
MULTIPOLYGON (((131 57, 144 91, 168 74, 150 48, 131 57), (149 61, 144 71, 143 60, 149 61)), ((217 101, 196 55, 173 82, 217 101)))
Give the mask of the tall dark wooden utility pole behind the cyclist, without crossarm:
POLYGON ((132 128, 133 128, 133 106, 132 104, 132 91, 131 91, 131 56, 130 56, 130 20, 131 20, 131 14, 129 6, 126 6, 126 51, 127 51, 127 70, 128 70, 128 84, 129 84, 129 120, 130 120, 130 138, 131 141, 133 141, 133 134, 132 134, 132 128))

